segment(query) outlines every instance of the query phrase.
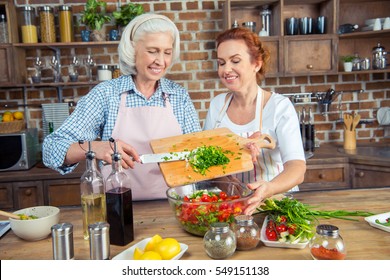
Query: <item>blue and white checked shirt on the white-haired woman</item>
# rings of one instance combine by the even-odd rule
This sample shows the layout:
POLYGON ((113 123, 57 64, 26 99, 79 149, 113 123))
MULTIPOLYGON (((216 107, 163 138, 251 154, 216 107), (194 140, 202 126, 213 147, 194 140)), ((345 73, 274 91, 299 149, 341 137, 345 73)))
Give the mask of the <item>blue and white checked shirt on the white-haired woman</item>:
POLYGON ((77 166, 63 166, 71 144, 79 140, 92 141, 97 138, 107 141, 114 129, 123 92, 128 93, 126 106, 129 108, 164 107, 163 93, 166 93, 183 134, 201 131, 198 114, 185 88, 162 78, 156 92, 146 99, 136 89, 131 76, 121 76, 96 85, 80 99, 76 109, 62 126, 44 139, 42 146, 44 164, 61 174, 67 174, 77 166))

